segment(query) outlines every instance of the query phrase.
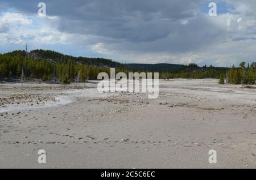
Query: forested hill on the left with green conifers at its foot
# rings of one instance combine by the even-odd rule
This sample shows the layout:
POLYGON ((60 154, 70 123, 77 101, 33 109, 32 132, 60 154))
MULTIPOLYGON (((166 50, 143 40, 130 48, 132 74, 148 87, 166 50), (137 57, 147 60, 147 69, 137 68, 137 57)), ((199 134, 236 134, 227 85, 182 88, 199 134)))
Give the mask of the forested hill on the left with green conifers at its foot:
POLYGON ((52 50, 24 50, 0 54, 0 80, 17 81, 19 79, 54 81, 69 83, 79 79, 97 79, 100 72, 128 71, 125 65, 111 59, 73 57, 52 50), (79 76, 79 77, 78 77, 79 76))

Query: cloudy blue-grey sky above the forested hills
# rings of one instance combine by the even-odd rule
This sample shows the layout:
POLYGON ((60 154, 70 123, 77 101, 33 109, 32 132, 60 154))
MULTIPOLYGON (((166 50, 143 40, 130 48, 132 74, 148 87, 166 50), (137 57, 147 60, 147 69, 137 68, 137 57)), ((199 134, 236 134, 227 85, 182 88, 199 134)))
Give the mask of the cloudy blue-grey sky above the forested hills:
POLYGON ((121 63, 239 65, 256 59, 255 10, 255 0, 0 0, 0 53, 27 42, 121 63))

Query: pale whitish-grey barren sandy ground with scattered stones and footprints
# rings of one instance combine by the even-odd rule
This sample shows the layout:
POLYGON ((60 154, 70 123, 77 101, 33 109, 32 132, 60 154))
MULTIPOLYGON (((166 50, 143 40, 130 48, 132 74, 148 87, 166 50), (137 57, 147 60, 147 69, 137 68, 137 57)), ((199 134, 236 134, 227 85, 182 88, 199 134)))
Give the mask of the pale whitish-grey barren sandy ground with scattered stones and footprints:
POLYGON ((0 84, 0 168, 256 168, 255 89, 160 80, 150 100, 95 83, 0 84))

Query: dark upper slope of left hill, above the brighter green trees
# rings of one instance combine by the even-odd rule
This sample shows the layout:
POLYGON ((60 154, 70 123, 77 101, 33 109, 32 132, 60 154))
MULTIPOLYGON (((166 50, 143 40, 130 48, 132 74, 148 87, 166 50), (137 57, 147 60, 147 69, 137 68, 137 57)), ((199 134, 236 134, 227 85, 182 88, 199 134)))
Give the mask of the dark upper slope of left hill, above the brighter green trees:
POLYGON ((72 55, 65 55, 59 52, 55 52, 53 50, 42 50, 36 49, 32 50, 29 53, 26 53, 24 50, 16 50, 11 53, 6 53, 11 56, 18 57, 19 55, 22 57, 30 57, 32 59, 45 59, 48 62, 53 63, 65 63, 68 61, 73 61, 75 63, 81 63, 82 65, 94 65, 100 67, 123 67, 121 63, 112 61, 112 59, 105 58, 88 58, 88 57, 73 57, 72 55))

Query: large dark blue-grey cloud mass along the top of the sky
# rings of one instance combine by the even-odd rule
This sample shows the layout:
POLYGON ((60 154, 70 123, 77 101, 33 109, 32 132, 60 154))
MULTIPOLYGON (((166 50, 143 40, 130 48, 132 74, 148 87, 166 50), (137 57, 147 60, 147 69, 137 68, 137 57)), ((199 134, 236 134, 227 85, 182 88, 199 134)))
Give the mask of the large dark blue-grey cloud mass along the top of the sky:
MULTIPOLYGON (((44 1, 47 15, 61 18, 57 27, 81 33, 127 41, 154 41, 167 37, 174 24, 195 17, 196 2, 170 0, 44 1)), ((21 12, 36 13, 35 1, 6 1, 21 12)))

